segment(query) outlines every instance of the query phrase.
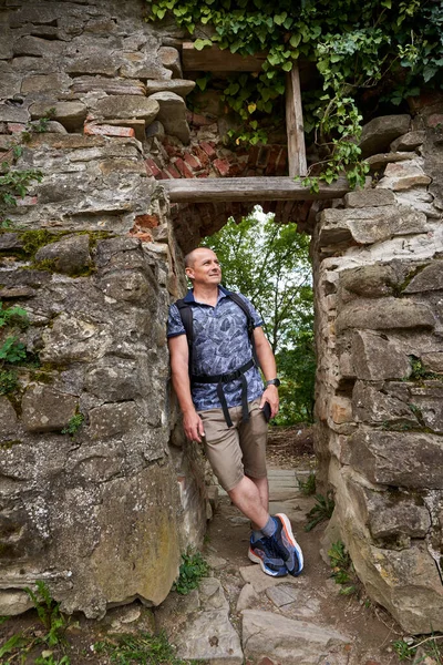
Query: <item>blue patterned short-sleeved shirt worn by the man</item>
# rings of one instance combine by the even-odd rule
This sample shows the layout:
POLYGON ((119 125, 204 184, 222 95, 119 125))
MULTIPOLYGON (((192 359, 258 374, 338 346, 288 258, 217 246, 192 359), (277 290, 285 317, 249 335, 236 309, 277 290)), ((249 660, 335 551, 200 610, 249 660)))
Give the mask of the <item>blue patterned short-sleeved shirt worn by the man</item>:
MULTIPOLYGON (((192 290, 185 297, 185 303, 189 303, 193 311, 193 375, 230 372, 246 365, 253 357, 246 315, 226 294, 226 289, 219 286, 215 307, 196 301, 192 290)), ((254 327, 262 326, 262 320, 251 303, 243 294, 239 295, 249 308, 254 327)), ((174 304, 169 307, 167 337, 177 335, 186 335, 186 330, 178 308, 174 304)), ((245 377, 248 383, 248 402, 250 402, 261 396, 264 385, 256 367, 251 367, 245 377)), ((224 383, 224 392, 229 408, 241 405, 240 379, 224 383)), ((192 396, 197 411, 222 408, 216 383, 195 382, 192 386, 192 396)))

